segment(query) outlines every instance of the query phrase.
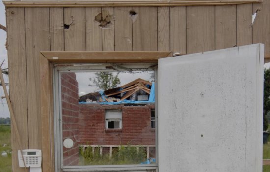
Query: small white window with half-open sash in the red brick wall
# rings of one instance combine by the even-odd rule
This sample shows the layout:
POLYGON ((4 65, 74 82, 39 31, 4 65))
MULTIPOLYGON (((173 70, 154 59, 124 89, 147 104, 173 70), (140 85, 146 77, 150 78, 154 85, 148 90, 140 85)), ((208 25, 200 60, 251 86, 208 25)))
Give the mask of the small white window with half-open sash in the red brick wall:
POLYGON ((106 129, 122 128, 122 110, 106 110, 105 112, 106 129))

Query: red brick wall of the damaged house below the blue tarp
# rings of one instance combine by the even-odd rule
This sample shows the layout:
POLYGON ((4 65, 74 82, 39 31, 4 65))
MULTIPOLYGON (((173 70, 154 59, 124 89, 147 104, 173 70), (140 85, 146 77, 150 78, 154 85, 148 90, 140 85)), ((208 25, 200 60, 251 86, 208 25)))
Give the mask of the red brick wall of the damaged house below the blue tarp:
POLYGON ((79 105, 80 145, 155 145, 151 108, 146 106, 79 105), (122 129, 105 128, 106 109, 122 109, 122 129))

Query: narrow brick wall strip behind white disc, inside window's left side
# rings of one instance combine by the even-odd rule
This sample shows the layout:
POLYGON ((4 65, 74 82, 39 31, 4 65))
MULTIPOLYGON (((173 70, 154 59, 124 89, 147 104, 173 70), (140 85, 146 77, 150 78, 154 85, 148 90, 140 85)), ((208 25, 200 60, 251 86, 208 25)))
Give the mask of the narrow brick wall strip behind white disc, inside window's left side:
POLYGON ((75 73, 61 74, 61 90, 63 141, 70 138, 74 142, 72 148, 63 147, 63 161, 65 166, 78 165, 79 104, 78 82, 75 73))

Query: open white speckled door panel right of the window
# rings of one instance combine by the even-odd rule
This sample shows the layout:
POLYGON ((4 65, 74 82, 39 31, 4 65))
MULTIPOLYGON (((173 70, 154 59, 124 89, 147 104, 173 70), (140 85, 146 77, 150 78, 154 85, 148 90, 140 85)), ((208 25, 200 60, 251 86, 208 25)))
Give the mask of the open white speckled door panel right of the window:
POLYGON ((159 60, 159 172, 262 172, 264 45, 159 60))

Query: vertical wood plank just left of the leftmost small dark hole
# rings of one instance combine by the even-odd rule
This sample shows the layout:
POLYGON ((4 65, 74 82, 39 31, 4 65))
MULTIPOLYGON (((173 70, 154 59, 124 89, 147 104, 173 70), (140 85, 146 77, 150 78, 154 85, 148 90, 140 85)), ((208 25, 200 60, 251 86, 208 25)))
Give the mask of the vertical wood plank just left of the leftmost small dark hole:
POLYGON ((64 51, 64 9, 50 8, 51 51, 64 51))

